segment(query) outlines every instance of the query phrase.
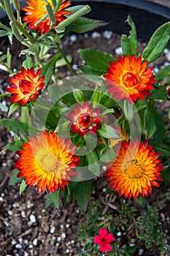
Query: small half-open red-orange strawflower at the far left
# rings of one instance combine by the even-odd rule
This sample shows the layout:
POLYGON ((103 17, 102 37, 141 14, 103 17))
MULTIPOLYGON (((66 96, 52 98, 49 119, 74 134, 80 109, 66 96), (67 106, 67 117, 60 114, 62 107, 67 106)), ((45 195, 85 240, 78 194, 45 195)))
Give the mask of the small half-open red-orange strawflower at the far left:
POLYGON ((8 78, 11 82, 9 88, 6 89, 11 93, 9 101, 18 102, 19 105, 26 105, 26 103, 34 101, 45 86, 43 83, 45 77, 40 78, 40 73, 41 69, 35 73, 32 67, 28 70, 22 67, 21 73, 17 73, 13 78, 8 78))

